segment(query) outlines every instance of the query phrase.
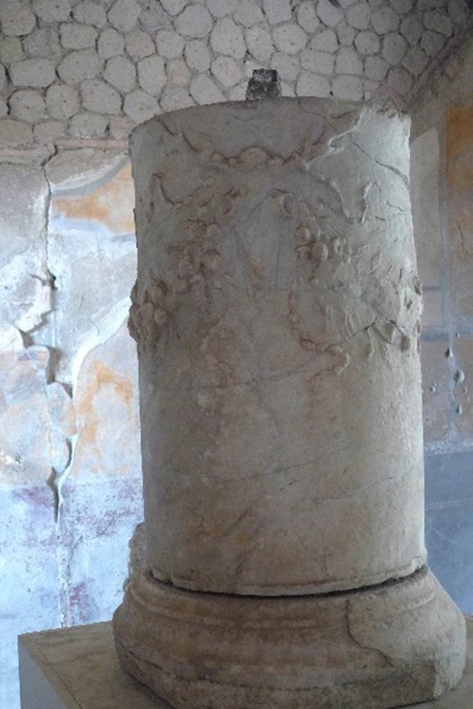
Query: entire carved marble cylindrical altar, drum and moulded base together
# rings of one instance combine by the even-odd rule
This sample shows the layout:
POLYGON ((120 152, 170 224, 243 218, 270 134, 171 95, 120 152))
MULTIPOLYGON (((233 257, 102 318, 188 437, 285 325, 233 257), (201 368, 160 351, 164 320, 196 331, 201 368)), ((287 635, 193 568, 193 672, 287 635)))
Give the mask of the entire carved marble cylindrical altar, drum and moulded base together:
POLYGON ((319 99, 133 131, 148 570, 123 667, 177 709, 387 709, 455 686, 426 569, 408 120, 319 99))

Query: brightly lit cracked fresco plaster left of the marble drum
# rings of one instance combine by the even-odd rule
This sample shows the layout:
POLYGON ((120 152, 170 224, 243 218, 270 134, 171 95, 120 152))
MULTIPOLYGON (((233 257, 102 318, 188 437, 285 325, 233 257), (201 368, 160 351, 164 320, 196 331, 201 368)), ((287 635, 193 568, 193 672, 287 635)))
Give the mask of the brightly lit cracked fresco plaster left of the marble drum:
POLYGON ((18 632, 104 620, 120 602, 142 495, 126 152, 63 147, 41 166, 1 165, 0 183, 0 706, 10 709, 18 632))

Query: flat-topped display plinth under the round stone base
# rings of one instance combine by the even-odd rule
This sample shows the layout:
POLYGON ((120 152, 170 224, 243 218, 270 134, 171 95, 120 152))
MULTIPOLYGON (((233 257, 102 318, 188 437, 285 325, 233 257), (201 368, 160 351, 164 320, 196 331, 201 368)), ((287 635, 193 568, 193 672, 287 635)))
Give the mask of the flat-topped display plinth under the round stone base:
MULTIPOLYGON (((467 618, 467 668, 460 686, 418 709, 472 709, 473 618, 467 618)), ((111 623, 21 635, 22 709, 170 709, 118 664, 111 623)))

